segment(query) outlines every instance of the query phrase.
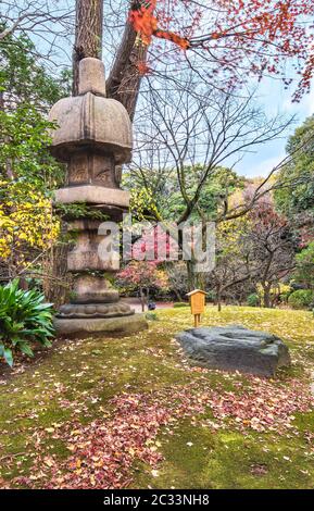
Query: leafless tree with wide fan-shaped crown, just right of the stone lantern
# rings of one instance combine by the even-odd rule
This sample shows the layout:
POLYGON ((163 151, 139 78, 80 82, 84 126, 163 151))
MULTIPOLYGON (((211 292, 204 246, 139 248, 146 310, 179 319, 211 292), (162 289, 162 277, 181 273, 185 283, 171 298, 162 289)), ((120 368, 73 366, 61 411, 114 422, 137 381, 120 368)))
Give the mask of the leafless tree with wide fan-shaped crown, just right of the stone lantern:
MULTIPOLYGON (((237 161, 258 145, 282 134, 289 120, 267 120, 253 98, 238 100, 200 84, 192 72, 185 74, 185 87, 163 89, 155 82, 143 92, 141 119, 136 122, 136 148, 128 172, 128 186, 145 190, 150 200, 146 216, 177 225, 223 222, 246 214, 271 186, 256 187, 250 201, 236 207, 230 197, 243 179, 226 162, 237 161)), ((202 287, 203 276, 194 272, 192 253, 187 263, 190 287, 202 287)))

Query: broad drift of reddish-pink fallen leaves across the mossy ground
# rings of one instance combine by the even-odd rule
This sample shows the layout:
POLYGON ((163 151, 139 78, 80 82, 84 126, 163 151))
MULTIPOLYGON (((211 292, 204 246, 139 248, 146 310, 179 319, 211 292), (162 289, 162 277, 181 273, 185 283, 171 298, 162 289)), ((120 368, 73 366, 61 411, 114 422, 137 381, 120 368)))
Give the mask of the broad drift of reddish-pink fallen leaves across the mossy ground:
MULTIPOLYGON (((294 414, 313 408, 313 396, 300 381, 284 385, 248 377, 242 388, 237 375, 225 374, 225 378, 234 378, 234 391, 208 388, 204 375, 184 386, 116 396, 110 402, 112 412, 87 425, 79 420, 58 424, 55 438, 65 443, 70 457, 64 461, 48 457, 38 443, 32 477, 17 477, 14 483, 36 487, 40 481, 45 488, 125 488, 131 482, 135 461, 147 463, 152 476, 160 474, 162 454, 156 436, 162 426, 172 434, 179 420, 189 417, 193 424, 201 421, 213 433, 228 427, 243 434, 254 429, 298 435, 294 414), (204 415, 209 411, 211 420, 204 415)), ((48 436, 50 429, 46 428, 48 436)), ((192 443, 187 446, 191 448, 192 443)), ((260 473, 263 469, 252 471, 260 473)))

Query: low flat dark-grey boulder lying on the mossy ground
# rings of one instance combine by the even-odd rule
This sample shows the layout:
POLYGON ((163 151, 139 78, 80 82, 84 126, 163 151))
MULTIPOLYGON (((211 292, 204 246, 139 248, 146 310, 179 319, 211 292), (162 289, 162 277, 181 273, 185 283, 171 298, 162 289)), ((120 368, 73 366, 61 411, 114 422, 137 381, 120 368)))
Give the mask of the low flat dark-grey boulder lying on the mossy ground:
POLYGON ((291 363, 279 337, 240 325, 191 328, 176 338, 196 365, 210 369, 272 377, 278 367, 291 363))

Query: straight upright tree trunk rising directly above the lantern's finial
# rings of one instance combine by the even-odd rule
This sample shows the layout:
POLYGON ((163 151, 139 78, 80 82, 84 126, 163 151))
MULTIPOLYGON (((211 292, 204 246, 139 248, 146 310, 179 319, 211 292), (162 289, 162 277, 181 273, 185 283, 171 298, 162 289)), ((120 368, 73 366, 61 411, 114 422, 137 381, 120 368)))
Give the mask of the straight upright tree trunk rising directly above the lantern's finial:
POLYGON ((73 49, 73 96, 78 91, 78 64, 86 57, 101 59, 103 0, 76 0, 73 49))

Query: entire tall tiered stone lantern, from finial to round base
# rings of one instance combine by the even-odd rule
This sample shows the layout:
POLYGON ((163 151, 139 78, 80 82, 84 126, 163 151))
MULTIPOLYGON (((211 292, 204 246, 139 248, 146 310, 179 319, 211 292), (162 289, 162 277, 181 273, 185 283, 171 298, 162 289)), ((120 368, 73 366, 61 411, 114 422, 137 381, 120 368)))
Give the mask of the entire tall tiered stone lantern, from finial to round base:
MULTIPOLYGON (((56 124, 51 134, 51 152, 67 164, 66 186, 56 190, 55 201, 85 203, 90 211, 100 211, 112 222, 121 221, 123 212, 128 210, 129 194, 120 188, 118 169, 131 158, 131 123, 118 101, 105 98, 101 60, 80 61, 78 96, 58 101, 49 119, 56 124)), ((112 285, 118 270, 116 258, 99 257, 99 244, 111 234, 100 234, 103 220, 92 219, 90 215, 75 219, 68 213, 67 228, 77 236, 67 257, 74 288, 71 303, 62 306, 56 314, 56 332, 86 337, 140 331, 147 327, 145 319, 120 301, 118 291, 112 285)))

